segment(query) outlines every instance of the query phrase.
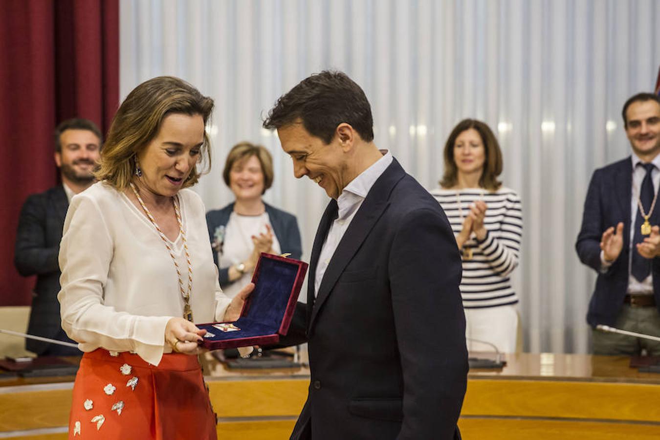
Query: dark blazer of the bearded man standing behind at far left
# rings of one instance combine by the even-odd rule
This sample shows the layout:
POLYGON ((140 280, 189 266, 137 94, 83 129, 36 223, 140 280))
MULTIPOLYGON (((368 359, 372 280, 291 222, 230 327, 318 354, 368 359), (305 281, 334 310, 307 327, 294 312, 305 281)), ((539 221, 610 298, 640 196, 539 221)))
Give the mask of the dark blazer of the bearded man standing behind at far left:
MULTIPOLYGON (((57 256, 68 208, 62 185, 26 199, 18 218, 14 265, 22 276, 37 276, 28 333, 75 343, 61 328, 57 301, 60 275, 57 256)), ((49 354, 81 354, 76 348, 33 339, 26 339, 25 348, 36 354, 43 354, 47 349, 49 354)))

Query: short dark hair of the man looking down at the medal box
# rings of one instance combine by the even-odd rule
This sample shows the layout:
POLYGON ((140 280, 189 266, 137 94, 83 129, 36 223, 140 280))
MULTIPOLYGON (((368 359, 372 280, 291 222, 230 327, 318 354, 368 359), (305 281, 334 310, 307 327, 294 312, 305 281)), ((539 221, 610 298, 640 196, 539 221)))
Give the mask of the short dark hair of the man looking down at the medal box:
POLYGON ((325 144, 332 142, 341 123, 353 127, 363 141, 374 140, 369 101, 362 88, 343 72, 323 71, 300 81, 275 102, 263 127, 279 129, 298 119, 310 135, 325 144))

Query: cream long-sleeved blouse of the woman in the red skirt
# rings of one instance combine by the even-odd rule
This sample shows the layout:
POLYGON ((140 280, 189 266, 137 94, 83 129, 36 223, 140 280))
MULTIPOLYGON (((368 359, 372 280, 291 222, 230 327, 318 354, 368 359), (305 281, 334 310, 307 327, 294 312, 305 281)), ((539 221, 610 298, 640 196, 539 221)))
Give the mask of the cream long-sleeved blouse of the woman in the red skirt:
MULTIPOLYGON (((190 189, 179 191, 179 200, 193 268, 193 318, 197 323, 220 321, 231 300, 218 284, 206 210, 190 189)), ((187 290, 182 245, 180 235, 172 247, 187 290)), ((83 352, 131 351, 153 365, 170 352, 165 326, 170 318, 183 316, 178 276, 158 232, 125 194, 98 182, 73 197, 59 267, 62 328, 83 352)))

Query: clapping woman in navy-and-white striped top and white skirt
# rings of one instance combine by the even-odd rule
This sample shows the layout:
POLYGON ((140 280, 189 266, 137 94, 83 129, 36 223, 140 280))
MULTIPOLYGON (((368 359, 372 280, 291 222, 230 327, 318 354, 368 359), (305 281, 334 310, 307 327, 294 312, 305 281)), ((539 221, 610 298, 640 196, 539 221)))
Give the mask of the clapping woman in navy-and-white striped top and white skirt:
POLYGON ((523 229, 520 198, 502 186, 502 151, 488 125, 461 121, 444 150, 445 172, 432 195, 440 203, 463 258, 461 294, 469 350, 516 351, 518 298, 511 272, 523 229))

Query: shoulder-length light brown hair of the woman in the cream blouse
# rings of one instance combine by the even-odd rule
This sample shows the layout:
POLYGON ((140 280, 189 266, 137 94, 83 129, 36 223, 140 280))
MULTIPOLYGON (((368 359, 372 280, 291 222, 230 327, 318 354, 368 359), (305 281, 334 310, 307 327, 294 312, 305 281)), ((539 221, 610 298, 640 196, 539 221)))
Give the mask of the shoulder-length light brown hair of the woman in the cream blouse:
MULTIPOLYGON (((112 119, 96 179, 108 181, 120 191, 125 189, 133 179, 135 157, 156 137, 166 115, 201 115, 206 127, 212 111, 213 99, 182 79, 156 77, 143 82, 128 94, 112 119)), ((195 166, 183 182, 184 188, 195 185, 201 173, 211 169, 211 146, 206 130, 201 158, 205 164, 203 171, 195 166)))

